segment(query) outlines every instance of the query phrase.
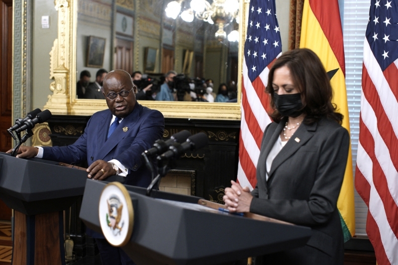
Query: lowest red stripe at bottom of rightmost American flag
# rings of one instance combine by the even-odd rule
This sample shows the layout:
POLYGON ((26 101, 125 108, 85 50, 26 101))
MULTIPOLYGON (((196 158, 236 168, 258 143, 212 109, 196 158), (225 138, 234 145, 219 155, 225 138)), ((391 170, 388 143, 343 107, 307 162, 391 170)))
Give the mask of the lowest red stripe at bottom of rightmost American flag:
MULTIPOLYGON (((366 180, 365 180, 366 181, 366 180)), ((368 217, 366 218, 366 233, 369 236, 369 240, 375 249, 377 264, 380 265, 391 265, 387 258, 386 251, 383 247, 383 242, 380 236, 380 230, 377 226, 375 219, 368 211, 368 217)))

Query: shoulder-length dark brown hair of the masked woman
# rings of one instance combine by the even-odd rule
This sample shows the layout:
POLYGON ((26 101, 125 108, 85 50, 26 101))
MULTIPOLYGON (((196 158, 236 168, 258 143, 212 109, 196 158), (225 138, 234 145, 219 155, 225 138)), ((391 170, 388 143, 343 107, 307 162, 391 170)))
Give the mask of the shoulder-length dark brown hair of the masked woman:
POLYGON ((327 117, 341 124, 343 115, 336 112, 337 107, 331 101, 333 90, 329 77, 319 57, 309 49, 295 49, 284 53, 270 69, 266 92, 270 94, 271 107, 275 109, 271 114, 274 121, 279 122, 282 115, 275 107, 272 83, 275 70, 284 66, 289 68, 292 79, 301 93, 302 110, 306 114, 303 122, 312 124, 322 117, 327 117))

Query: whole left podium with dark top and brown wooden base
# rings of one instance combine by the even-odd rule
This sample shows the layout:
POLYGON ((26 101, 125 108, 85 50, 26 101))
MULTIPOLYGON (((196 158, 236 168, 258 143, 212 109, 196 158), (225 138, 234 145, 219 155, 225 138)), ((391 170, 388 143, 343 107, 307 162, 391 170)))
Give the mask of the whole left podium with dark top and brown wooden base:
POLYGON ((58 162, 0 153, 0 198, 14 209, 12 265, 65 265, 62 211, 83 194, 86 179, 58 162))

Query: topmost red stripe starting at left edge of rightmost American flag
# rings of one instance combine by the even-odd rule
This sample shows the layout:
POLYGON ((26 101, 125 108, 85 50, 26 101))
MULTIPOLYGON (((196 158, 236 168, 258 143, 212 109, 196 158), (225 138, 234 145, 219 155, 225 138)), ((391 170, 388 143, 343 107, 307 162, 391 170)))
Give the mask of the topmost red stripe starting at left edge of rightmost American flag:
POLYGON ((379 94, 368 74, 365 65, 362 68, 362 89, 366 100, 368 100, 369 104, 373 108, 373 111, 376 113, 377 128, 383 138, 383 141, 389 147, 391 160, 393 161, 394 167, 398 171, 398 139, 395 135, 393 126, 391 125, 390 119, 387 117, 382 102, 380 101, 379 94))

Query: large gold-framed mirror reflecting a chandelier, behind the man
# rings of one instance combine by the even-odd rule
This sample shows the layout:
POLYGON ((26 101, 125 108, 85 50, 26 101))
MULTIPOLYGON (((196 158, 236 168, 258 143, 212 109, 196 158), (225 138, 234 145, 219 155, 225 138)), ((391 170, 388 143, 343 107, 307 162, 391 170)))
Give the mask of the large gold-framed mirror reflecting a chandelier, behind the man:
MULTIPOLYGON (((59 14, 62 12, 61 7, 69 8, 69 30, 72 40, 76 40, 71 41, 70 75, 62 80, 69 83, 69 89, 65 89, 69 101, 66 103, 67 113, 87 115, 106 108, 104 100, 78 98, 76 83, 84 70, 91 73, 91 82, 95 81, 100 68, 107 71, 123 69, 129 73, 140 71, 155 79, 160 78, 162 73, 175 70, 192 79, 211 79, 215 93, 218 92, 221 83, 234 81, 238 88, 236 102, 139 102, 160 110, 165 117, 240 119, 241 74, 238 73, 242 71, 244 38, 243 34, 237 34, 236 31, 242 32, 242 23, 238 22, 245 21, 242 15, 243 0, 209 0, 207 5, 223 6, 229 1, 236 1, 239 11, 236 14, 230 13, 227 20, 226 11, 223 11, 223 15, 221 7, 214 9, 218 10, 218 13, 212 11, 214 15, 199 19, 199 12, 190 7, 190 0, 71 0, 69 6, 59 6, 59 14), (181 6, 176 19, 169 17, 171 15, 165 12, 167 9, 170 12, 171 2, 181 6), (188 18, 185 15, 186 11, 189 11, 188 18), (192 22, 187 22, 190 19, 192 22), (212 19, 213 24, 209 23, 212 19), (236 31, 233 32, 234 30, 236 31), (231 32, 233 33, 230 34, 231 32), (232 41, 234 38, 238 41, 232 41)), ((204 12, 208 13, 208 10, 204 12)), ((203 12, 201 15, 203 16, 203 12)), ((58 21, 58 42, 62 36, 65 39, 65 35, 60 35, 60 32, 65 32, 65 21, 60 19, 62 20, 62 17, 59 17, 58 21)), ((66 33, 69 32, 66 30, 66 33)), ((62 49, 59 43, 58 46, 62 49)), ((54 47, 53 49, 56 50, 54 47)), ((59 58, 59 51, 54 51, 55 53, 59 58)), ((55 56, 54 54, 52 56, 55 56)), ((57 89, 60 82, 57 81, 56 67, 52 66, 52 71, 55 82, 50 89, 54 91, 54 95, 49 96, 46 106, 50 110, 51 107, 56 110, 55 94, 60 93, 57 89)), ((162 84, 161 81, 159 83, 162 84)), ((156 88, 154 90, 156 92, 156 88)))

